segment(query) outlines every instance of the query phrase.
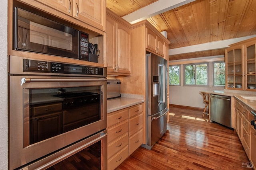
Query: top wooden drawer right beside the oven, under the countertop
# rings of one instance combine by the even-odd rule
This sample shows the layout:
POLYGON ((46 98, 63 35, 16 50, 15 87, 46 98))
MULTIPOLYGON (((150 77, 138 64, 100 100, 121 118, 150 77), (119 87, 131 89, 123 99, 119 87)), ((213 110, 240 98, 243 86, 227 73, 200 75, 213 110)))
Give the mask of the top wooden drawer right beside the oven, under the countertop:
POLYGON ((108 113, 108 127, 124 121, 125 119, 128 119, 128 109, 114 113, 108 113))

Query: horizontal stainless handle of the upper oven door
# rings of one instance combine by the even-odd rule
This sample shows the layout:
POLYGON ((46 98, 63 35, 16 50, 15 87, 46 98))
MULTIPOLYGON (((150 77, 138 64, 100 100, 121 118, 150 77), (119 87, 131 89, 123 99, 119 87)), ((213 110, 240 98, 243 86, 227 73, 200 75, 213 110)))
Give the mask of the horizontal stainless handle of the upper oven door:
POLYGON ((106 78, 22 78, 21 85, 23 83, 30 82, 91 82, 91 81, 106 81, 106 78))

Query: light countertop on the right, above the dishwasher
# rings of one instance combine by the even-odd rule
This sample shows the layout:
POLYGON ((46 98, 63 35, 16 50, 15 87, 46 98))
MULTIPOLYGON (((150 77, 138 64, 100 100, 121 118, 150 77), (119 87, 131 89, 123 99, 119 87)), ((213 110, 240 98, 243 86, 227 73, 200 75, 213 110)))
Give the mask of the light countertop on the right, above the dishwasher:
POLYGON ((256 94, 248 94, 241 92, 234 92, 234 91, 225 91, 225 90, 213 90, 213 91, 200 91, 200 92, 206 92, 210 94, 217 94, 222 96, 233 96, 236 99, 238 99, 240 102, 244 103, 248 107, 250 107, 252 110, 256 110, 256 100, 248 100, 243 98, 242 96, 252 96, 256 97, 256 94))

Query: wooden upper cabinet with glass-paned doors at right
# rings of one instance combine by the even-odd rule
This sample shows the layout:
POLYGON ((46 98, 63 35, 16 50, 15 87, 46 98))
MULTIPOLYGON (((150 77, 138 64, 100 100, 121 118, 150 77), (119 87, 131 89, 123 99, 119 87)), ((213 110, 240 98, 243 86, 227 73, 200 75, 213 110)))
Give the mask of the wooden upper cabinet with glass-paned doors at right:
POLYGON ((256 38, 230 45, 225 50, 226 89, 255 91, 256 38))

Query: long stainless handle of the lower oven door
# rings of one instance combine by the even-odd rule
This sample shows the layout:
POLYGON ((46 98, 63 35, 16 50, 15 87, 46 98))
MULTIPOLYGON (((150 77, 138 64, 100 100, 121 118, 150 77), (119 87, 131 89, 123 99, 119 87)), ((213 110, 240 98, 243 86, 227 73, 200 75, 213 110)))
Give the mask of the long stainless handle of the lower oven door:
POLYGON ((64 159, 72 156, 73 154, 75 154, 77 152, 80 152, 81 150, 93 145, 94 143, 96 143, 98 141, 101 141, 107 135, 108 135, 107 133, 101 133, 100 136, 97 137, 96 139, 93 139, 92 141, 90 141, 90 142, 88 142, 88 143, 86 143, 86 144, 84 144, 84 145, 82 145, 82 146, 80 146, 80 147, 78 147, 78 148, 76 148, 76 149, 74 149, 74 150, 72 150, 72 151, 70 151, 70 152, 52 160, 52 161, 50 161, 50 162, 48 162, 47 164, 44 164, 43 166, 40 166, 40 167, 36 168, 36 170, 44 170, 46 168, 49 168, 49 167, 55 165, 56 163, 60 162, 61 160, 64 160, 64 159))

